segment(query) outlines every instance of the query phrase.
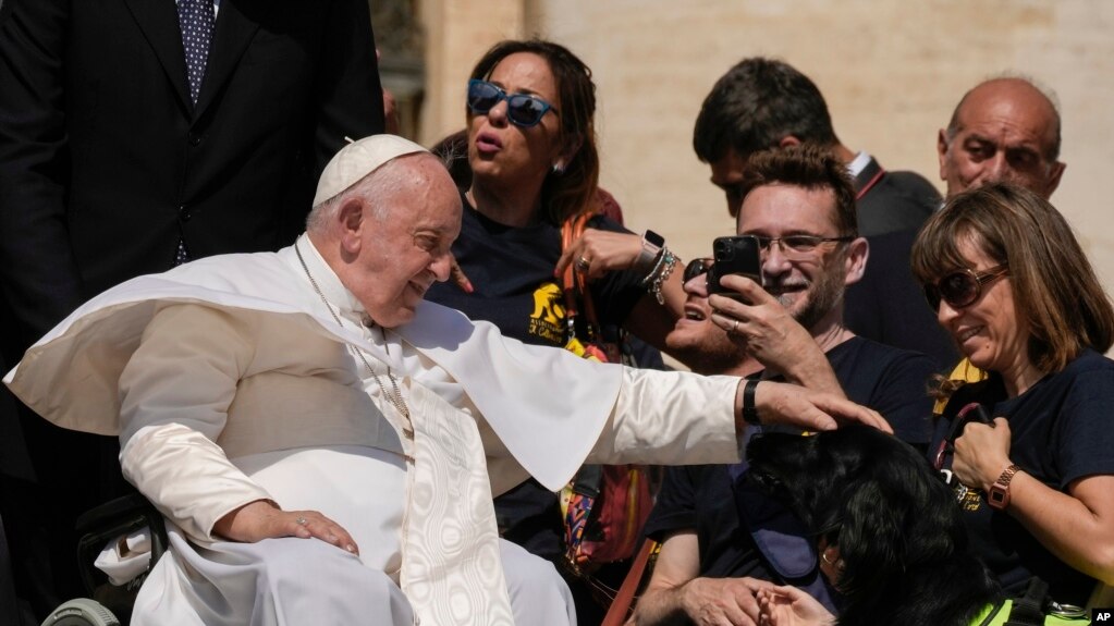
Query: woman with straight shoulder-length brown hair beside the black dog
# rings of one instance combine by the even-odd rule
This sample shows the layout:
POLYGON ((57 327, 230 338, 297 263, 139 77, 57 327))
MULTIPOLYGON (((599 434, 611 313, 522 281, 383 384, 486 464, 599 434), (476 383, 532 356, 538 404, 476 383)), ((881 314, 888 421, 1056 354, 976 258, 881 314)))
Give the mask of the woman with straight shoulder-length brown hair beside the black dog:
POLYGON ((949 199, 918 235, 912 268, 940 324, 988 372, 941 385, 929 448, 977 552, 1007 593, 1036 576, 1054 600, 1084 606, 1096 581, 1114 584, 1110 297, 1064 217, 1007 184, 949 199), (954 424, 973 403, 993 423, 954 424))

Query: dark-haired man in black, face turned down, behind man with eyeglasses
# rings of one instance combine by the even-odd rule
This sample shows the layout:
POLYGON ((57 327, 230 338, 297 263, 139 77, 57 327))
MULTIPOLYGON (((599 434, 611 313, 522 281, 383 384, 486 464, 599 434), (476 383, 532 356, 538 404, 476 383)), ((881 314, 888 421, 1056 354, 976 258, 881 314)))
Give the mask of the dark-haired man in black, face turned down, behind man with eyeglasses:
MULTIPOLYGON (((867 153, 840 143, 828 104, 809 77, 784 61, 743 59, 716 81, 693 131, 696 156, 712 167, 712 183, 723 189, 732 216, 742 204, 747 157, 805 141, 829 148, 851 174, 859 232, 870 244, 866 276, 895 274, 895 281, 913 285, 908 244, 897 234, 911 237, 940 205, 939 192, 919 174, 888 172, 867 153)), ((941 369, 955 362, 951 340, 921 302, 879 303, 878 297, 860 284, 848 288, 843 320, 852 332, 924 352, 941 369), (882 326, 876 313, 892 324, 882 326)))

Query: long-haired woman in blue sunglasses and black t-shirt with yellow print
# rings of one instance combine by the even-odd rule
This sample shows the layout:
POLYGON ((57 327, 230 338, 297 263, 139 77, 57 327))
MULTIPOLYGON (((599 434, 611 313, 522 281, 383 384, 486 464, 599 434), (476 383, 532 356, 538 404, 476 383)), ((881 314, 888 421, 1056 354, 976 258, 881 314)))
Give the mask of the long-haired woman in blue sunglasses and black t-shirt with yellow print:
MULTIPOLYGON (((452 252, 472 291, 438 284, 427 299, 526 343, 564 348, 569 336, 557 276, 573 264, 590 278, 605 331, 622 327, 662 348, 683 313, 681 268, 672 271, 677 260, 664 250, 641 255, 643 237, 598 215, 592 70, 557 43, 502 41, 472 70, 466 104, 471 178, 462 189, 462 226, 452 252), (564 247, 561 225, 585 214, 592 215, 586 235, 564 247), (662 278, 656 285, 646 281, 655 273, 662 278), (664 304, 648 291, 657 291, 664 304)), ((496 498, 496 515, 506 539, 561 558, 557 497, 537 482, 496 498)), ((574 580, 570 587, 582 623, 598 620, 582 613, 590 600, 582 601, 574 580)))

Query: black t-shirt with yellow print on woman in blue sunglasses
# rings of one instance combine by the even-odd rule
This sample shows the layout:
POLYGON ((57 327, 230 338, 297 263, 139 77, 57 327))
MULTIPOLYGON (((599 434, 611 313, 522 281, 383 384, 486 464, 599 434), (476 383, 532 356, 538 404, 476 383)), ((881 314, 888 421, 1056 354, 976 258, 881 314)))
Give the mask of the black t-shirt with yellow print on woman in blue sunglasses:
MULTIPOLYGON (((494 222, 463 200, 460 237, 452 244, 457 263, 475 287, 465 293, 452 282, 434 284, 427 300, 491 322, 504 335, 524 343, 564 349, 565 300, 554 268, 561 253, 560 227, 548 223, 511 227, 494 222)), ((615 222, 594 217, 592 228, 626 233, 615 222)), ((612 272, 590 285, 600 325, 618 326, 646 293, 642 276, 612 272)), ((530 552, 563 554, 557 496, 528 480, 495 499, 502 536, 530 552)))

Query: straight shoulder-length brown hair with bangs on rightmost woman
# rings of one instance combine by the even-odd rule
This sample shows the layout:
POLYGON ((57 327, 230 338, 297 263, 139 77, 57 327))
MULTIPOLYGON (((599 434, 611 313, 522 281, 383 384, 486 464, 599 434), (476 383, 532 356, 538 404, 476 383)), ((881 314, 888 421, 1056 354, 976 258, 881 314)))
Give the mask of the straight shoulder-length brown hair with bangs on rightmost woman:
POLYGON ((959 246, 970 242, 1009 266, 1015 310, 1028 325, 1028 358, 1058 372, 1086 348, 1114 342, 1114 307, 1064 216, 1035 193, 995 183, 948 199, 912 246, 921 283, 969 266, 959 246))

